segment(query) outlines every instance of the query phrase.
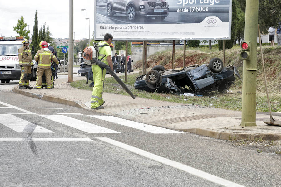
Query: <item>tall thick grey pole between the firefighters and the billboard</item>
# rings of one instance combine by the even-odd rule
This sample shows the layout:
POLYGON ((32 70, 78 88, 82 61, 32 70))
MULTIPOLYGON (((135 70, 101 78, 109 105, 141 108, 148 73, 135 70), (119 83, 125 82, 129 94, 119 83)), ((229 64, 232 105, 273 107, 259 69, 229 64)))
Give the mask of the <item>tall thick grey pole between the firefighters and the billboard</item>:
POLYGON ((73 0, 69 0, 68 83, 73 82, 73 0))

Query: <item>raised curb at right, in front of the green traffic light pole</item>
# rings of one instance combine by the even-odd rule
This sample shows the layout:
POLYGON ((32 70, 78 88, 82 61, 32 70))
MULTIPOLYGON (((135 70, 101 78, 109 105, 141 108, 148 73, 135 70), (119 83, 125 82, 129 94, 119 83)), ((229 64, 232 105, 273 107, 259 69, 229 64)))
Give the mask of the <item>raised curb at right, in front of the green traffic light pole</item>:
POLYGON ((190 132, 202 136, 207 136, 222 140, 256 140, 262 138, 263 140, 281 140, 280 134, 272 133, 235 133, 235 132, 219 132, 206 128, 192 128, 181 129, 184 132, 190 132))

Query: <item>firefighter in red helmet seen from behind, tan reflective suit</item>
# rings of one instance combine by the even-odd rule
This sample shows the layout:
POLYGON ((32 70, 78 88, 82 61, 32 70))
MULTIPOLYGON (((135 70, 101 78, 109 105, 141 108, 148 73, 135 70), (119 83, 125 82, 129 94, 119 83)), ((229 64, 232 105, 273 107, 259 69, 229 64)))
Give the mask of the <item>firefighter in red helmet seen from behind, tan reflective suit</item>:
POLYGON ((52 89, 52 81, 51 81, 51 60, 58 64, 57 58, 52 53, 52 51, 48 48, 48 43, 46 41, 41 41, 39 43, 40 50, 37 51, 34 56, 34 60, 37 61, 38 69, 37 69, 37 79, 36 79, 36 87, 34 89, 41 89, 42 86, 42 76, 43 73, 46 75, 47 89, 52 89))

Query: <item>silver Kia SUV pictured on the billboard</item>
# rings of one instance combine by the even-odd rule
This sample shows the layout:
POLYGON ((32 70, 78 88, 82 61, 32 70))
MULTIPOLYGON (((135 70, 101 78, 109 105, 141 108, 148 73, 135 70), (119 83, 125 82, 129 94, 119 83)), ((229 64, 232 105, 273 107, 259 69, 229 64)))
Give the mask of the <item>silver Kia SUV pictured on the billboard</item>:
POLYGON ((126 14, 130 21, 137 16, 161 21, 169 15, 169 5, 167 0, 108 0, 107 16, 115 13, 126 14))

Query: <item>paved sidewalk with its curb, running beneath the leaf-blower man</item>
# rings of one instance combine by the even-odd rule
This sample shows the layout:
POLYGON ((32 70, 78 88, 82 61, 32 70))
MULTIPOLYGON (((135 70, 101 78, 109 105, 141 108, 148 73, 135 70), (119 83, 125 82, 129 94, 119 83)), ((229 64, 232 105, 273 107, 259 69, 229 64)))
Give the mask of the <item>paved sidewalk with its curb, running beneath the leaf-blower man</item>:
MULTIPOLYGON (((86 79, 74 77, 74 81, 86 79)), ((31 82, 35 86, 35 81, 31 82)), ((55 79, 55 88, 18 89, 14 92, 51 102, 70 106, 90 108, 91 91, 76 89, 67 83, 67 79, 55 79), (81 97, 84 95, 84 97, 81 97)), ((158 101, 153 99, 131 98, 131 96, 103 93, 104 113, 124 119, 191 132, 217 139, 281 140, 281 126, 269 126, 263 122, 269 115, 256 114, 256 127, 241 127, 241 112, 219 108, 200 107, 183 103, 158 101)), ((281 120, 280 116, 274 119, 281 120)))

